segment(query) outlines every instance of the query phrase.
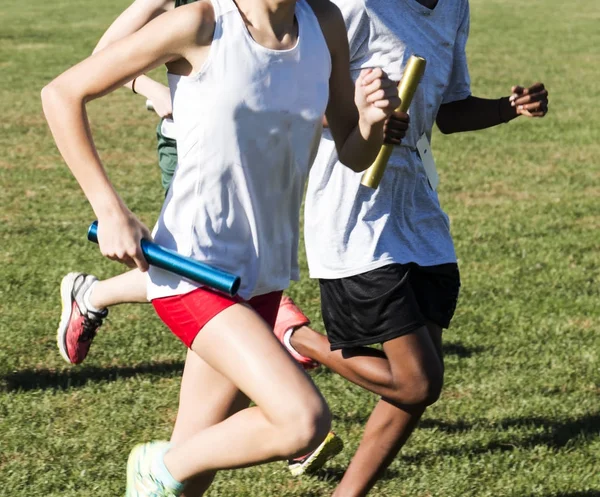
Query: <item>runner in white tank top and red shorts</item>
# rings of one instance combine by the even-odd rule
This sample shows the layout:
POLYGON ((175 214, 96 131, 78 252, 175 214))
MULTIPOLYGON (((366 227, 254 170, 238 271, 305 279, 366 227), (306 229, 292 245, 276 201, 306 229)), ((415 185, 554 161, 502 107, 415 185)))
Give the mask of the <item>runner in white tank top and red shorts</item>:
POLYGON ((140 240, 150 233, 110 183, 85 103, 166 63, 181 162, 155 237, 242 276, 234 300, 149 272, 157 311, 190 347, 183 382, 196 398, 182 395, 185 439, 132 451, 128 496, 181 495, 197 475, 301 455, 328 432, 325 401, 267 322, 297 276, 299 208, 322 115, 341 161, 360 171, 399 104, 381 70, 365 71, 353 88, 348 58, 343 19, 325 0, 202 1, 160 16, 42 91, 57 146, 99 220, 102 253, 145 271, 140 240), (198 410, 197 392, 207 408, 198 410), (230 416, 246 396, 256 406, 230 416))

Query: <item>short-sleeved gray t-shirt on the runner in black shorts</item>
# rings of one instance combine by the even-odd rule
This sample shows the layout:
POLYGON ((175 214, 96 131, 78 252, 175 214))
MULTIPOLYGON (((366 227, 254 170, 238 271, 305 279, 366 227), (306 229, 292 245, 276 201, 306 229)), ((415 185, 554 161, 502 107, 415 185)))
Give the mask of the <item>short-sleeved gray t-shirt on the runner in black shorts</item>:
POLYGON ((439 0, 435 9, 416 0, 334 0, 344 16, 354 79, 382 67, 400 80, 412 54, 425 57, 425 75, 412 101, 410 127, 395 147, 379 188, 360 184, 338 162, 328 130, 309 177, 305 241, 313 278, 342 278, 391 263, 432 266, 456 261, 448 217, 429 185, 416 150, 442 103, 470 95, 465 55, 468 0, 439 0))

